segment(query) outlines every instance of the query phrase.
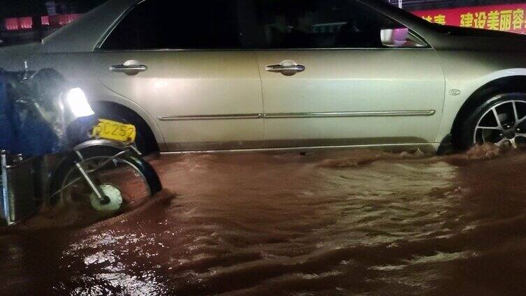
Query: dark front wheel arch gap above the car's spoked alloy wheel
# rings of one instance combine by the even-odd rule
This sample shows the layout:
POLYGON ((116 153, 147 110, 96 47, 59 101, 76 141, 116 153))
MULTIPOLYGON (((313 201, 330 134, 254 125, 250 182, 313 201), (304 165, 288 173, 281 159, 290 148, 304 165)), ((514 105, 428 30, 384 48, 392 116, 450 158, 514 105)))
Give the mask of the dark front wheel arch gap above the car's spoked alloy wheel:
POLYGON ((459 131, 462 126, 462 121, 484 101, 499 94, 518 91, 526 92, 526 75, 500 77, 476 89, 476 91, 467 98, 464 104, 462 104, 462 107, 457 112, 455 120, 453 121, 453 126, 450 131, 453 135, 453 141, 455 140, 455 135, 457 135, 456 132, 459 131))

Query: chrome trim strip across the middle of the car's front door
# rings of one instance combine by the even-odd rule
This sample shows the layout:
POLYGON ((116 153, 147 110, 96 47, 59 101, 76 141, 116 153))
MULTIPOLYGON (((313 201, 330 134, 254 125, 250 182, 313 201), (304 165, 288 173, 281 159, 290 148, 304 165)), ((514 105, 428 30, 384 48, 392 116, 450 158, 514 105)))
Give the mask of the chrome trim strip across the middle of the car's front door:
POLYGON ((378 112, 308 112, 308 113, 270 113, 264 118, 328 118, 328 117, 395 117, 395 116, 431 116, 435 110, 427 111, 378 111, 378 112))

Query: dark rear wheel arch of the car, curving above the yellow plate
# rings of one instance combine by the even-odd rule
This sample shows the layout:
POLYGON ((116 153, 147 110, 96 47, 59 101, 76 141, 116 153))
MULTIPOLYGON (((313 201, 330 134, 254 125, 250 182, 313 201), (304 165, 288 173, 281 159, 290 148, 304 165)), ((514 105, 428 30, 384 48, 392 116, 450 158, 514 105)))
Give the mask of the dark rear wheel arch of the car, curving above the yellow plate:
POLYGON ((162 135, 159 135, 158 132, 155 133, 152 124, 149 124, 147 119, 143 118, 136 111, 112 101, 93 101, 91 104, 96 112, 99 110, 114 112, 127 119, 127 121, 134 123, 138 127, 138 130, 144 133, 145 141, 148 143, 148 152, 160 151, 162 142, 159 142, 159 138, 162 138, 162 135))

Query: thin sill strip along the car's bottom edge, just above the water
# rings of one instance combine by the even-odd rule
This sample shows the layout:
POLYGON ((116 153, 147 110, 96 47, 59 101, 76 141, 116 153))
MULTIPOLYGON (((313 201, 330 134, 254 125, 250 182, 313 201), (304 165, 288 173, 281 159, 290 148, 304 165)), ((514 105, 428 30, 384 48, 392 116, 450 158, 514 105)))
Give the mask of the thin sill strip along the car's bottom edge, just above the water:
POLYGON ((407 143, 407 144, 373 144, 373 145, 341 145, 341 146, 313 146, 313 147, 285 147, 285 148, 255 148, 255 149, 227 149, 227 150, 186 150, 186 151, 166 151, 162 155, 171 154, 223 154, 223 153, 246 153, 246 152, 291 152, 291 151, 317 151, 334 149, 353 149, 353 148, 425 148, 429 147, 432 151, 439 149, 440 143, 407 143))

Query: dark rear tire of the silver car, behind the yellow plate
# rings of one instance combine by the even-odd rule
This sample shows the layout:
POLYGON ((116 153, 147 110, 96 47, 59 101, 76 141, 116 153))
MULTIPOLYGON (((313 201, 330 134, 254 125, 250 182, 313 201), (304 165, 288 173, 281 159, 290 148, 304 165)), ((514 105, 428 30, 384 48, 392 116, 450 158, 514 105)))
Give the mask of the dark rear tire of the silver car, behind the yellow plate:
POLYGON ((159 152, 159 146, 157 145, 155 136, 152 131, 150 131, 150 128, 148 128, 148 124, 146 124, 144 119, 138 115, 130 110, 125 110, 125 108, 100 103, 93 103, 93 109, 98 118, 110 119, 122 122, 123 124, 133 124, 137 128, 135 145, 144 155, 159 152))

